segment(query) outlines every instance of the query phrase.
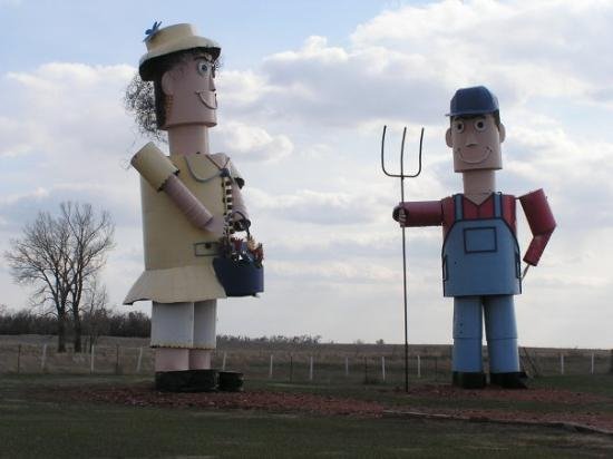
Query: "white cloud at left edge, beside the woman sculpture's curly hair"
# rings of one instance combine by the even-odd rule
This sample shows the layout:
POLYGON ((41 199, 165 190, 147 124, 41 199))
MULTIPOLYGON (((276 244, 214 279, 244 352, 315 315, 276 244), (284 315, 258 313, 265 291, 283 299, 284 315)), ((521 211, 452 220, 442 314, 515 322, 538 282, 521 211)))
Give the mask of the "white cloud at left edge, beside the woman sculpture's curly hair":
MULTIPOLYGON (((123 153, 116 149, 117 136, 126 145, 130 138, 121 98, 133 75, 129 66, 62 62, 7 74, 0 91, 11 105, 0 108, 0 116, 12 121, 4 127, 8 137, 1 152, 32 154, 37 167, 60 176, 67 160, 86 172, 96 162, 117 159, 123 153)), ((0 129, 2 125, 0 119, 0 129)))

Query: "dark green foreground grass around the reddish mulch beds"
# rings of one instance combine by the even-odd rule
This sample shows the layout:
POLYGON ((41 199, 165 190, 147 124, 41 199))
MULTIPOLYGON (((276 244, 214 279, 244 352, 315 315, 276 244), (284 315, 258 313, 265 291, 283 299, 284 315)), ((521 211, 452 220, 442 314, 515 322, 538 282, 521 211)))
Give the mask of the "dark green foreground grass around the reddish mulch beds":
MULTIPOLYGON (((267 411, 206 407, 134 407, 129 401, 93 402, 58 395, 72 389, 149 390, 134 375, 0 375, 2 458, 576 458, 612 457, 613 437, 561 428, 393 417, 322 416, 301 410, 267 411)), ((411 384, 413 387, 415 383, 411 384)), ((290 392, 382 403, 387 409, 522 410, 592 412, 613 419, 612 377, 557 377, 533 382, 535 391, 572 390, 596 399, 520 401, 447 399, 437 392, 409 395, 381 384, 298 384, 250 380, 246 392, 290 392)), ((440 388, 447 387, 446 384, 440 388)), ((150 392, 150 390, 149 390, 150 392)), ((527 393, 529 391, 523 391, 527 393)), ((574 393, 573 392, 573 393, 574 393)), ((154 394, 155 395, 155 394, 154 394)), ((210 394, 208 397, 217 397, 210 394)))

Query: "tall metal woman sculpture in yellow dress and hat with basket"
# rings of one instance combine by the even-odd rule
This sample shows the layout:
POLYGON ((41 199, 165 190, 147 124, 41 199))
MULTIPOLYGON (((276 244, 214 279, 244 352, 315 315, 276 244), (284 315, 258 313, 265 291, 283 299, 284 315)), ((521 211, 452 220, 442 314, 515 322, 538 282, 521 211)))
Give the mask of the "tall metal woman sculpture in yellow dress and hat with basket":
POLYGON ((158 389, 212 390, 217 299, 263 291, 263 251, 249 233, 243 177, 225 154, 208 150, 220 46, 187 23, 155 23, 146 35, 139 75, 153 81, 171 154, 148 143, 130 162, 140 174, 145 271, 124 303, 153 302, 158 389))

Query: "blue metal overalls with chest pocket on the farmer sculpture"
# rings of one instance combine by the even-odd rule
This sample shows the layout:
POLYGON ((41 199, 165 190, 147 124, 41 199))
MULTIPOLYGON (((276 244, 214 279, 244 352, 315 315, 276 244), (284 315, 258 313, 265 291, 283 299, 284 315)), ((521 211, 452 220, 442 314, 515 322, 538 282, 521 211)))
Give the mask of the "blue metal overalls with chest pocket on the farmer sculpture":
POLYGON ((522 292, 519 247, 494 194, 494 217, 464 219, 463 195, 454 196, 455 222, 442 245, 442 287, 454 296, 455 372, 483 372, 481 307, 489 372, 519 371, 513 295, 522 292))

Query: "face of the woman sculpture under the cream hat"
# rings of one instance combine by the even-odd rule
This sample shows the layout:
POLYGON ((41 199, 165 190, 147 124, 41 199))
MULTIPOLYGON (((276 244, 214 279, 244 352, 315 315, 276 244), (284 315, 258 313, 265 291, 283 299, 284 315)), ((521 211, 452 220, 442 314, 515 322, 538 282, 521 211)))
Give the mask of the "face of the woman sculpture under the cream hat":
POLYGON ((207 53, 187 55, 162 77, 166 100, 164 129, 179 125, 217 124, 215 64, 207 53))

